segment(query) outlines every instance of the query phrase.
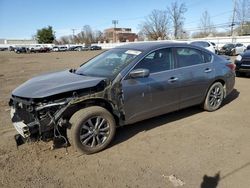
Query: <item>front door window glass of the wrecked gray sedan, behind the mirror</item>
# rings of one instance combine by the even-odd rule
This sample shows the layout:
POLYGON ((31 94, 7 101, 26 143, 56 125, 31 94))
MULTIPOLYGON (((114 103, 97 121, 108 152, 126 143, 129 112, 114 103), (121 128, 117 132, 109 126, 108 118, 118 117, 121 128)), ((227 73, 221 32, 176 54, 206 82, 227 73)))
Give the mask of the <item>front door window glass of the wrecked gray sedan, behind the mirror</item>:
POLYGON ((142 59, 134 69, 148 69, 150 73, 170 70, 173 64, 170 48, 156 50, 142 59))

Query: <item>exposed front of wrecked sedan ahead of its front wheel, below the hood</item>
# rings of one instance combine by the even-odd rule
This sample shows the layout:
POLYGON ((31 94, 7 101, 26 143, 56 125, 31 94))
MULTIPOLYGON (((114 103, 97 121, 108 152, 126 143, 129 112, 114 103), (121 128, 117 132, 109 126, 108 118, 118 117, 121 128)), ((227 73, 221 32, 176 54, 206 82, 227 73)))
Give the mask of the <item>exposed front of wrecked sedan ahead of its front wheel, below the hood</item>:
POLYGON ((15 135, 17 146, 27 141, 65 138, 63 124, 66 122, 62 122, 61 115, 66 110, 69 101, 70 99, 65 99, 42 103, 12 96, 9 105, 11 106, 11 120, 19 133, 15 135))

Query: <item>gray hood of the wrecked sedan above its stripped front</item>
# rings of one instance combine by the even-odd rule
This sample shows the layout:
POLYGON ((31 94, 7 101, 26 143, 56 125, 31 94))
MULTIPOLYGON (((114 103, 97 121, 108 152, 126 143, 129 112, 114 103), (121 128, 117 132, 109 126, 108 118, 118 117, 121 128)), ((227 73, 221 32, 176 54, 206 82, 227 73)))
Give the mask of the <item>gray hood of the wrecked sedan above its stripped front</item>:
POLYGON ((34 77, 17 87, 12 95, 24 98, 44 98, 60 93, 96 86, 105 78, 74 74, 69 70, 34 77))

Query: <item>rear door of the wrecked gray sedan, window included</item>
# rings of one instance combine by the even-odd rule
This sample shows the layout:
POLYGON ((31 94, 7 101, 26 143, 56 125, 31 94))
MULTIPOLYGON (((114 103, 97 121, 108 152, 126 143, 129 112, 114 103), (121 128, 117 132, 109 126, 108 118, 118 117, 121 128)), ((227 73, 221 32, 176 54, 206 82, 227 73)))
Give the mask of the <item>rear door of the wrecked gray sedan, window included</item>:
POLYGON ((180 108, 196 105, 204 100, 214 78, 212 55, 194 48, 175 49, 180 70, 180 108))

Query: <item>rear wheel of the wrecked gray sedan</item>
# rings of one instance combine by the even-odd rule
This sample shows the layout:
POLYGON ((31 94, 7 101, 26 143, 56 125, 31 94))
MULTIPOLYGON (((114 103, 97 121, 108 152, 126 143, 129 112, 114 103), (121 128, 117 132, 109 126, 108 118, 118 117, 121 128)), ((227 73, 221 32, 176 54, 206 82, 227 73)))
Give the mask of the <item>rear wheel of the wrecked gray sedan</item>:
POLYGON ((224 88, 220 82, 215 82, 209 88, 205 101, 203 103, 203 109, 209 112, 215 111, 220 108, 224 99, 224 88))

